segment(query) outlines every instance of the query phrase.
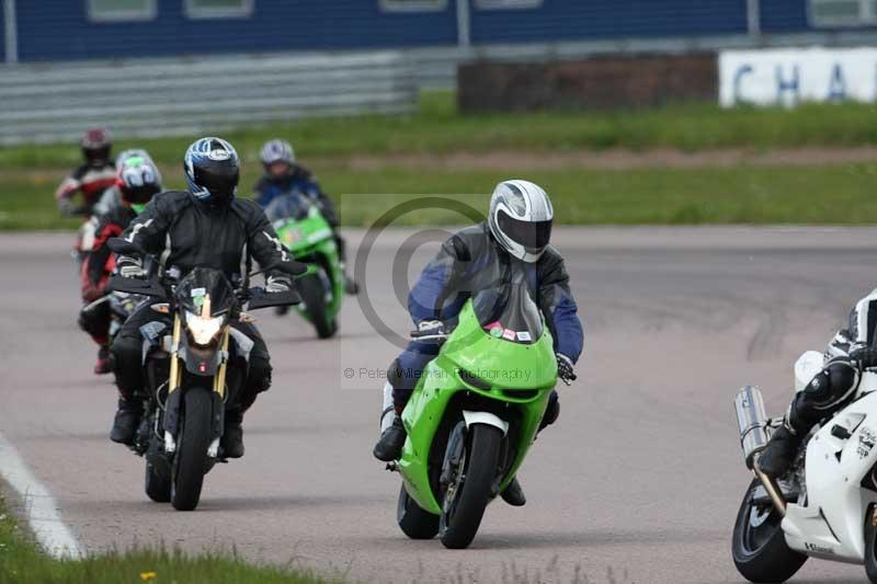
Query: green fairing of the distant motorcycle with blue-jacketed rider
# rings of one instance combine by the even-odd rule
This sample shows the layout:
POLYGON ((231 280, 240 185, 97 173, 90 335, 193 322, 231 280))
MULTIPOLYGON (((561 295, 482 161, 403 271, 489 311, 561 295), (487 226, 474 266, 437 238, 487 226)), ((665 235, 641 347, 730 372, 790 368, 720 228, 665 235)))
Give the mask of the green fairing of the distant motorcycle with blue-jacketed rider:
MULTIPOLYGON (((304 219, 283 219, 274 222, 280 240, 293 252, 297 261, 308 264, 308 274, 315 274, 323 265, 314 263, 315 256, 322 256, 329 267, 327 276, 331 280, 332 297, 326 305, 327 317, 331 320, 341 311, 341 299, 344 297, 344 274, 338 256, 332 228, 316 206, 310 206, 304 219)), ((307 308, 298 305, 296 310, 305 320, 310 321, 307 308)))

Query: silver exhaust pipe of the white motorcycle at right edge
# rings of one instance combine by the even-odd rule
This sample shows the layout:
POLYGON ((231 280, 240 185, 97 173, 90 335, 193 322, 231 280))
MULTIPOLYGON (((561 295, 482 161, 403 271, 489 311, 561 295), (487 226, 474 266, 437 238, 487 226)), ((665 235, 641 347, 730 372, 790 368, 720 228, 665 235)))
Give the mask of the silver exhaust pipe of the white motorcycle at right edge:
POLYGON ((740 430, 740 446, 743 448, 743 459, 747 467, 755 473, 764 485, 767 495, 773 501, 779 515, 786 516, 786 501, 779 494, 779 486, 771 477, 764 474, 756 463, 756 457, 767 446, 770 434, 770 420, 764 412, 764 398, 761 390, 753 386, 742 388, 733 400, 737 411, 737 424, 740 430))

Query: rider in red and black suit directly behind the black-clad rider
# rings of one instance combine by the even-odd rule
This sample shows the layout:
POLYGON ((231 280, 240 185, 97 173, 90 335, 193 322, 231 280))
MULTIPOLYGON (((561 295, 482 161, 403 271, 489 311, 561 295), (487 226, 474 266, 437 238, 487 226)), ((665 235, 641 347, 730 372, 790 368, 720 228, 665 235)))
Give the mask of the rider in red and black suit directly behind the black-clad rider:
POLYGON ((79 312, 79 325, 98 343, 98 363, 95 375, 109 374, 110 347, 110 305, 94 300, 106 296, 106 284, 115 267, 113 253, 106 245, 110 238, 118 237, 137 214, 140 213, 152 196, 161 192, 161 173, 149 159, 129 156, 119 160, 116 184, 107 190, 118 198, 118 204, 109 207, 96 216, 94 244, 82 263, 82 302, 84 308, 79 312))

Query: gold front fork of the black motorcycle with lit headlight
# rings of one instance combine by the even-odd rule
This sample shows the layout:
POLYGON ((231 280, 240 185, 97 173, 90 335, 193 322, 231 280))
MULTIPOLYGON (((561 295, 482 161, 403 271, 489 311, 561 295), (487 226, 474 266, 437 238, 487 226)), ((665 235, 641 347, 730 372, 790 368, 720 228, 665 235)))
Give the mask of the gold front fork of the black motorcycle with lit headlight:
MULTIPOLYGON (((182 402, 183 356, 180 354, 180 340, 182 336, 182 321, 179 314, 173 317, 173 332, 171 335, 171 365, 168 387, 168 399, 164 412, 164 451, 176 451, 176 435, 180 430, 180 405, 182 402)), ((207 450, 210 458, 219 455, 219 438, 223 435, 226 400, 226 373, 228 370, 228 337, 229 329, 226 325, 223 340, 219 344, 220 363, 216 375, 213 376, 213 420, 212 430, 214 439, 207 450)))

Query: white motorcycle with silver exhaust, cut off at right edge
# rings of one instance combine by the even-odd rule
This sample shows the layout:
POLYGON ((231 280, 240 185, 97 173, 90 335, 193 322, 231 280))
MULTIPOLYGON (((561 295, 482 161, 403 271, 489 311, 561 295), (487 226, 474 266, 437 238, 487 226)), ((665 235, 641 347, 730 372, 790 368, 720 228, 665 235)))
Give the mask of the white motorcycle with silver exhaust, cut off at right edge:
MULTIPOLYGON (((795 365, 801 391, 822 369, 810 351, 795 365)), ((785 582, 808 558, 865 564, 877 584, 877 373, 863 373, 854 401, 808 436, 779 481, 754 465, 783 419, 764 413, 761 391, 734 399, 747 466, 755 474, 733 528, 737 570, 751 582, 785 582)))

